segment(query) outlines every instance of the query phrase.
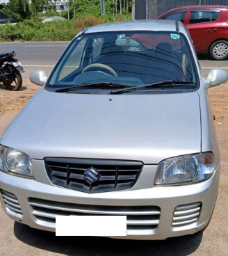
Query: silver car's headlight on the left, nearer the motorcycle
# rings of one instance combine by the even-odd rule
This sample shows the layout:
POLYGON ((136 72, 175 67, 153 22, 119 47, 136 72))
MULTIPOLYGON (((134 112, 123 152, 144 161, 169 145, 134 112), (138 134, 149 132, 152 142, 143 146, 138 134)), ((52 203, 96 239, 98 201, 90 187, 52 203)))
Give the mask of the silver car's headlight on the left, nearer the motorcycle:
POLYGON ((31 158, 19 150, 0 145, 0 170, 21 177, 33 178, 31 158))

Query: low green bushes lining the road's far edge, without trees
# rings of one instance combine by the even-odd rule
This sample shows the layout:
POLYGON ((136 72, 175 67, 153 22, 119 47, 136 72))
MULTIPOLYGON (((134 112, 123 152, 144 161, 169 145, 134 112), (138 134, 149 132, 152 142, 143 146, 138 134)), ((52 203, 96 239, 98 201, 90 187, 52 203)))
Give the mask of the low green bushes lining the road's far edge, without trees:
MULTIPOLYGON (((124 15, 115 15, 115 21, 128 19, 124 15)), ((109 21, 113 17, 110 17, 109 21)), ((95 26, 103 23, 99 18, 89 15, 84 19, 58 20, 42 23, 40 19, 25 19, 13 25, 10 23, 0 26, 0 42, 10 41, 69 41, 74 35, 86 29, 88 26, 95 26)))

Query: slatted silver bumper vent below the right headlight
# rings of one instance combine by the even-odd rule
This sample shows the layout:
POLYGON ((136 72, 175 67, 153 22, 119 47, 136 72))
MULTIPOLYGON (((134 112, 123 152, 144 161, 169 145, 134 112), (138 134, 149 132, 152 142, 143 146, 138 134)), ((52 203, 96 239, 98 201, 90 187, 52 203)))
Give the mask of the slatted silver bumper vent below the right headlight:
POLYGON ((179 205, 174 209, 172 226, 182 227, 196 223, 199 219, 201 207, 201 202, 195 202, 189 205, 179 205))

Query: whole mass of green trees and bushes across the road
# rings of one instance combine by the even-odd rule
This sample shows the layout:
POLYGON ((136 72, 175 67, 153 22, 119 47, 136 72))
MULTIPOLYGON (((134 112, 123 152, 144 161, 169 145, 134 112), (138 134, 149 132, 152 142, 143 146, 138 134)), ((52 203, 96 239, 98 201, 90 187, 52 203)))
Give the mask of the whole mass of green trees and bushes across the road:
POLYGON ((3 13, 8 15, 17 24, 0 26, 0 41, 48 41, 72 40, 81 29, 103 22, 117 22, 131 19, 131 0, 106 0, 106 15, 101 17, 100 0, 69 0, 70 20, 41 22, 38 16, 61 16, 67 19, 67 11, 58 13, 54 6, 49 6, 47 13, 42 13, 44 3, 50 0, 10 0, 4 6, 3 13), (120 3, 122 3, 120 12, 120 3), (75 17, 76 19, 72 19, 75 17))

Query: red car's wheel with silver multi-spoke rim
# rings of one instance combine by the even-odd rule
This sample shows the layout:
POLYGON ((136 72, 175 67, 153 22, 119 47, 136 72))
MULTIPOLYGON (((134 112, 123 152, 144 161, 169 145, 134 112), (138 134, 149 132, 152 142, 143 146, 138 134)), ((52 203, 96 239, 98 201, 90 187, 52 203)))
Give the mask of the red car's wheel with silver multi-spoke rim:
POLYGON ((228 58, 228 42, 220 40, 210 47, 210 56, 216 61, 224 61, 228 58))

